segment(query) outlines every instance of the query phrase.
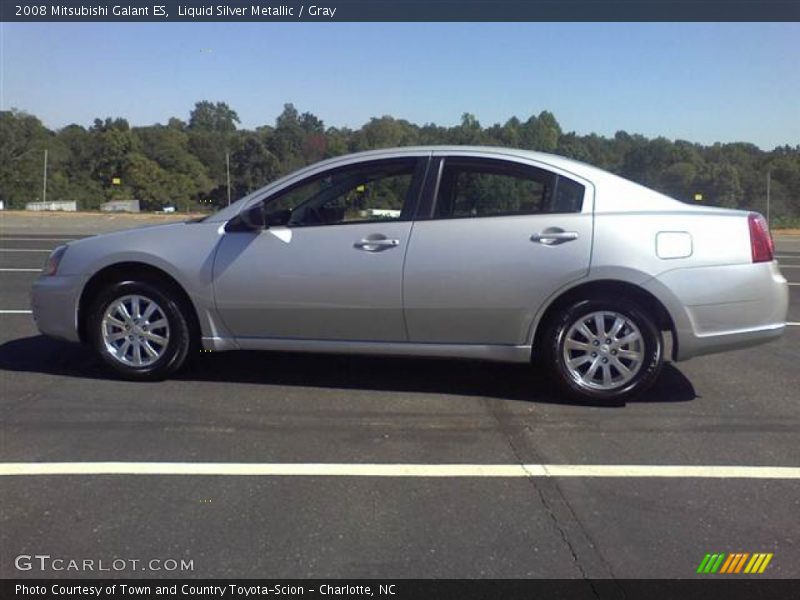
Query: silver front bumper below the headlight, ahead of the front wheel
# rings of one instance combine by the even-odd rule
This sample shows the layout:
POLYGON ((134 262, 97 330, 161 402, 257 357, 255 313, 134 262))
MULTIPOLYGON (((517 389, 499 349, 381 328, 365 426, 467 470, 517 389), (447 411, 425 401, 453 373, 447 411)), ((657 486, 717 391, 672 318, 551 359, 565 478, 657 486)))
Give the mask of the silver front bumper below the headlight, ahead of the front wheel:
POLYGON ((31 310, 36 327, 45 335, 71 342, 78 335, 78 301, 85 277, 40 277, 31 289, 31 310))

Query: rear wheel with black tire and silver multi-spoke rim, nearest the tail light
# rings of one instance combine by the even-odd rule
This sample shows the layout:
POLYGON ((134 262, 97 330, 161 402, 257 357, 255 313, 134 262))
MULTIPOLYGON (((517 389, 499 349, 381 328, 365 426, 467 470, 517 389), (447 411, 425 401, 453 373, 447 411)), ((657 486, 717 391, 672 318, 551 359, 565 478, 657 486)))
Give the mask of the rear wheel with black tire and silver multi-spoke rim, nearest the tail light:
POLYGON ((661 331, 645 310, 625 299, 568 306, 551 321, 543 342, 545 366, 556 387, 584 402, 620 404, 635 398, 653 385, 664 363, 661 331), (601 323, 605 335, 598 336, 601 323))

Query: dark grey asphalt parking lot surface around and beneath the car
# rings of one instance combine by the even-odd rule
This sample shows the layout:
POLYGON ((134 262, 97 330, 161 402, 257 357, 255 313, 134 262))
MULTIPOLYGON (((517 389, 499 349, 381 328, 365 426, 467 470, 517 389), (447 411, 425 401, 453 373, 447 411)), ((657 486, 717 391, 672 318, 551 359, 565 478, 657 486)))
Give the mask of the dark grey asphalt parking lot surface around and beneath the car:
POLYGON ((0 232, 0 462, 330 464, 312 475, 1 478, 0 577, 686 578, 709 552, 800 577, 800 479, 430 477, 424 465, 800 467, 800 236, 777 342, 667 365, 620 407, 526 367, 228 353, 153 384, 108 378, 26 311, 79 232, 0 232), (20 311, 20 312, 13 312, 20 311), (346 465, 417 465, 407 476, 346 465), (19 571, 21 554, 191 560, 193 571, 19 571))

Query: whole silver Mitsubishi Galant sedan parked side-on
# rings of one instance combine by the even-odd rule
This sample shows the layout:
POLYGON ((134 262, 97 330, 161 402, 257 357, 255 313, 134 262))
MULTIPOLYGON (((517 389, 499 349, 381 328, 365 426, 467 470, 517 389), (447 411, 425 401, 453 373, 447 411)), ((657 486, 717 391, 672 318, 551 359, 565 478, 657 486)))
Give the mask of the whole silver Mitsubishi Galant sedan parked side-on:
POLYGON ((204 219, 60 246, 48 335, 117 374, 190 351, 541 361, 565 394, 640 394, 674 360, 777 338, 788 287, 757 213, 683 204, 521 150, 334 158, 204 219))

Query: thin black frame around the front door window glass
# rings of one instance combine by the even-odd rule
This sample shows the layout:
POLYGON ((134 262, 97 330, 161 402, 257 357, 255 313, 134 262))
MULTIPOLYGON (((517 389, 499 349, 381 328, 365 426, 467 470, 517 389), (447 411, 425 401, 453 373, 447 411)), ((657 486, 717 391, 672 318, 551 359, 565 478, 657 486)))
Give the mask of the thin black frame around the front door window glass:
MULTIPOLYGON (((309 175, 308 177, 304 177, 299 181, 292 183, 291 185, 282 187, 279 190, 276 190, 272 194, 269 194, 265 198, 262 198, 258 202, 266 209, 269 203, 285 194, 289 194, 294 190, 308 185, 309 183, 317 180, 323 179, 325 177, 329 177, 337 172, 342 171, 349 171, 355 169, 369 169, 371 167, 379 167, 381 165, 391 164, 391 163, 409 163, 413 164, 413 168, 411 170, 411 184, 408 188, 408 193, 406 196, 406 201, 403 202, 403 207, 400 209, 400 217, 397 219, 368 219, 363 221, 342 221, 339 223, 309 223, 306 225, 303 224, 295 224, 295 225, 286 225, 288 229, 300 229, 300 228, 311 228, 311 227, 331 227, 334 225, 364 225, 369 223, 407 223, 411 222, 415 218, 415 214, 417 212, 417 207, 420 204, 420 197, 422 195, 422 190, 424 188, 424 183, 427 181, 428 176, 428 166, 430 164, 431 157, 429 155, 426 156, 393 156, 391 158, 377 158, 374 160, 366 160, 362 162, 352 162, 347 163, 344 165, 337 165, 330 169, 325 169, 324 171, 320 171, 314 173, 313 175, 309 175)), ((255 206, 255 204, 251 205, 255 206)), ((302 205, 301 205, 302 206, 302 205)))

